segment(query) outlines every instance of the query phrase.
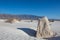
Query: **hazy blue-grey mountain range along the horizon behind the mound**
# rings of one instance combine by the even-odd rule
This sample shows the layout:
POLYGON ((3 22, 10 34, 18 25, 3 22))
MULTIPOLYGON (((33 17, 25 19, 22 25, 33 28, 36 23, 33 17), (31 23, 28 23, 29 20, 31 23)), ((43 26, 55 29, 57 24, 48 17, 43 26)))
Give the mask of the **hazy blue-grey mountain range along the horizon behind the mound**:
MULTIPOLYGON (((11 14, 0 14, 0 19, 8 19, 8 18, 18 18, 21 20, 38 20, 43 16, 35 16, 35 15, 11 15, 11 14)), ((49 19, 50 21, 60 21, 60 19, 49 19)))

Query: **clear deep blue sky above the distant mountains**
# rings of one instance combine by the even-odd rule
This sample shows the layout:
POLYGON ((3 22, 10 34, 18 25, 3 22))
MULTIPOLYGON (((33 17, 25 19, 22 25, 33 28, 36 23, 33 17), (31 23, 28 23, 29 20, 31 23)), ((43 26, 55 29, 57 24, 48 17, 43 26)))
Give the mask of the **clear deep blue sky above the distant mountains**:
POLYGON ((60 19, 59 0, 0 0, 0 13, 28 14, 60 19))

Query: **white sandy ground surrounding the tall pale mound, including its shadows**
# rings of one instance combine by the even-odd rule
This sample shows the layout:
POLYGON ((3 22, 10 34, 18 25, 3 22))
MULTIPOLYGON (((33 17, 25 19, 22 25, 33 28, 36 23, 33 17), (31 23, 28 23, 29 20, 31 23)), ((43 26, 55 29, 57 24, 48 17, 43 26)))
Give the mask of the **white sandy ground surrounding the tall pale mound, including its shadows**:
POLYGON ((60 40, 60 21, 51 24, 51 29, 56 33, 55 37, 37 39, 37 21, 20 21, 19 23, 5 23, 0 20, 0 40, 60 40))

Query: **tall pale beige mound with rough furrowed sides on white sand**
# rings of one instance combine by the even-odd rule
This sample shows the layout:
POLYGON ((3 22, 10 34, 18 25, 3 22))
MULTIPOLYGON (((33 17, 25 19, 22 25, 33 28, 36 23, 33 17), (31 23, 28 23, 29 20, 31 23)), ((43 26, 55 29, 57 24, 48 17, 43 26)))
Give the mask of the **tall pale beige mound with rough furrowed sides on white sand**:
POLYGON ((47 17, 43 17, 38 21, 37 38, 53 37, 54 33, 51 31, 47 17))

